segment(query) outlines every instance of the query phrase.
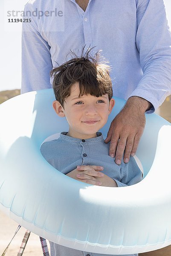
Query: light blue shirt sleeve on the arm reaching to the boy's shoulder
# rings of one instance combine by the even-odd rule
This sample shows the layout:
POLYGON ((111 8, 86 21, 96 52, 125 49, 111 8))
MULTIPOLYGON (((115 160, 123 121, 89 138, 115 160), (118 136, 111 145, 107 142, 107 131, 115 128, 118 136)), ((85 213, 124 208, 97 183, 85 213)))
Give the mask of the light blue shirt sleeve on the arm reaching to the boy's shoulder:
POLYGON ((130 97, 142 97, 156 110, 171 94, 171 31, 164 1, 136 0, 136 17, 143 76, 130 97))

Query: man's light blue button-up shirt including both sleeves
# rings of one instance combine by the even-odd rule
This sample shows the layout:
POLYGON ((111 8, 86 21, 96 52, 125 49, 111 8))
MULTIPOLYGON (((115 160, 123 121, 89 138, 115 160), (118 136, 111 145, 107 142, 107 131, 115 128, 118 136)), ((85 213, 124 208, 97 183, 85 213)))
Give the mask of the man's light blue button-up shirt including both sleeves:
POLYGON ((163 0, 89 0, 85 12, 75 0, 30 0, 24 12, 22 93, 52 87, 50 70, 84 45, 110 61, 114 96, 140 96, 157 109, 171 93, 163 0))

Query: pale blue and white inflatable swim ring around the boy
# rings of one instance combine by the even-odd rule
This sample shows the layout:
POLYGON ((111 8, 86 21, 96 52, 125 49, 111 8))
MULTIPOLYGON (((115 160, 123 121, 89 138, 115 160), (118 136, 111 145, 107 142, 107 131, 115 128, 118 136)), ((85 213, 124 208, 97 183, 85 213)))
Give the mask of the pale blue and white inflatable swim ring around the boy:
MULTIPOLYGON (((136 155, 144 179, 128 187, 73 180, 44 160, 46 137, 67 131, 52 109, 51 89, 0 105, 0 209, 33 233, 78 250, 130 254, 171 244, 171 124, 146 115, 136 155)), ((125 101, 116 106, 107 125, 125 101)))

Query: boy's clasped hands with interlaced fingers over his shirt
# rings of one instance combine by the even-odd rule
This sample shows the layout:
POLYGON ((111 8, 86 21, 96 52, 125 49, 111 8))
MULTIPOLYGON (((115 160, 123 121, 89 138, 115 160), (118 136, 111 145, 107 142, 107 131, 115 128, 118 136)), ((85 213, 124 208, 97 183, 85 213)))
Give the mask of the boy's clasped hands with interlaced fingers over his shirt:
POLYGON ((67 176, 72 179, 79 180, 91 185, 101 186, 104 174, 100 171, 103 170, 102 166, 77 166, 76 169, 69 172, 67 176))

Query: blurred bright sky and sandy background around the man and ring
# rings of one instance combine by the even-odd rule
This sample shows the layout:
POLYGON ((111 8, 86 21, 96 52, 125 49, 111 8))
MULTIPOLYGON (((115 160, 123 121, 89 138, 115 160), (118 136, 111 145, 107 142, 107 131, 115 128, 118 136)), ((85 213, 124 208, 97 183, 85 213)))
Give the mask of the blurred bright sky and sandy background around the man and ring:
MULTIPOLYGON (((0 0, 0 104, 19 95, 21 87, 21 23, 8 23, 9 17, 6 15, 6 10, 22 11, 27 2, 28 0, 0 0)), ((165 0, 165 6, 171 24, 171 0, 165 0)), ((171 96, 165 99, 156 113, 171 122, 171 96)), ((0 255, 12 239, 17 226, 14 221, 0 212, 0 255)), ((19 230, 6 256, 17 256, 25 231, 24 228, 19 230)), ((31 234, 24 255, 43 255, 39 237, 35 234, 31 234)), ((171 256, 171 246, 154 252, 139 254, 139 256, 171 256)))

